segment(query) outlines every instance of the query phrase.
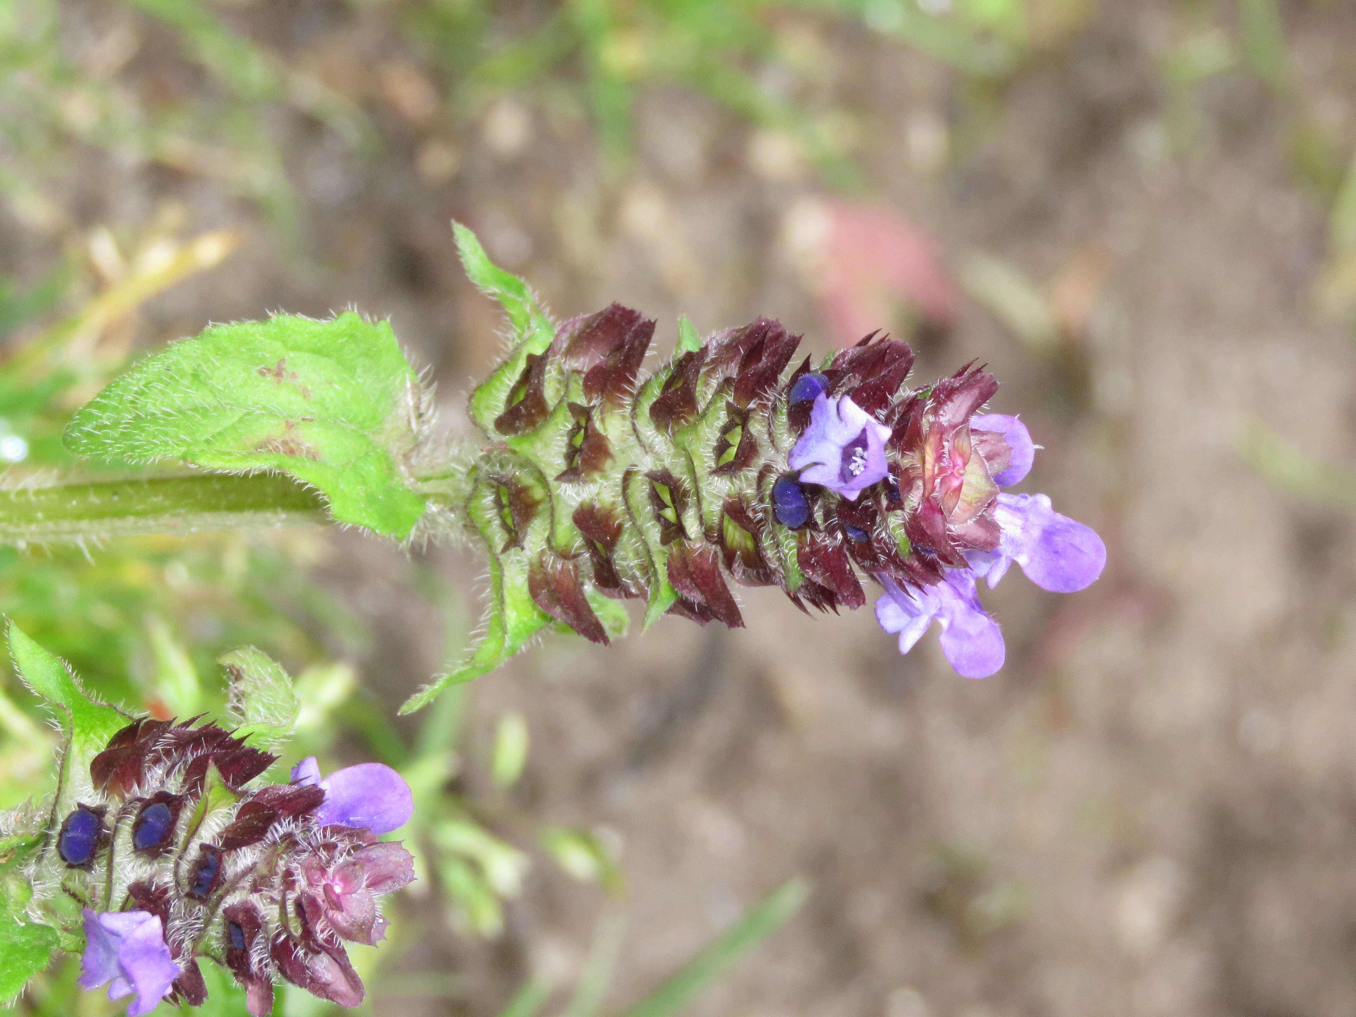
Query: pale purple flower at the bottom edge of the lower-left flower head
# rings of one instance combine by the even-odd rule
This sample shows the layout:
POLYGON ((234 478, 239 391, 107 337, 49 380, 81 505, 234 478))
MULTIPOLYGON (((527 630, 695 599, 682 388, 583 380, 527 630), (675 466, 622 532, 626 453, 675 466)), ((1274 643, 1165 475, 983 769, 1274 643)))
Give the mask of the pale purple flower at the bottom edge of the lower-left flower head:
POLYGON ((80 960, 81 989, 98 989, 104 982, 108 998, 129 993, 137 998, 127 1017, 151 1013, 179 978, 179 965, 170 956, 160 919, 149 911, 104 911, 84 909, 85 952, 80 960))

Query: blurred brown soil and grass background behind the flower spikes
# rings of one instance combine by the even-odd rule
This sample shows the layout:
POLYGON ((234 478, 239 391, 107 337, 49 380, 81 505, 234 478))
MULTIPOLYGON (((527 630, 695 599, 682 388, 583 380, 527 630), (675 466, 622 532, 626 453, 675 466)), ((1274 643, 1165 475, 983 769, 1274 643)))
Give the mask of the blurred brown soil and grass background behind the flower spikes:
MULTIPOLYGON (((7 0, 9 477, 129 357, 274 311, 389 316, 464 428, 502 323, 456 218, 660 348, 767 315, 987 362, 1024 490, 1111 559, 986 593, 980 682, 744 590, 744 631, 551 636, 399 721, 475 625, 471 552, 4 549, 3 609, 165 716, 252 641, 302 674, 301 750, 418 774, 377 1014, 614 1012, 796 875, 686 1013, 1351 1014, 1353 52, 1342 0, 7 0)), ((50 766, 8 682, 0 807, 50 766)))

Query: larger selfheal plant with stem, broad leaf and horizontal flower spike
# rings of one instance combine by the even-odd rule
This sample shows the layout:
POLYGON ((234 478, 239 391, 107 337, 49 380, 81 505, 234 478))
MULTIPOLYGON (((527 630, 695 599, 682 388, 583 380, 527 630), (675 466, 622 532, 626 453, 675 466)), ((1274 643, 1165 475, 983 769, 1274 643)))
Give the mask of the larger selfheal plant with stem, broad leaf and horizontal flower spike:
POLYGON ((984 412, 998 381, 982 367, 914 386, 898 339, 872 334, 797 363, 800 336, 776 320, 701 339, 683 317, 674 354, 647 372, 654 320, 613 304, 553 321, 454 231, 511 331, 471 396, 476 441, 437 437, 386 323, 350 312, 213 325, 114 380, 66 430, 79 454, 172 471, 0 491, 0 536, 328 514, 397 540, 469 540, 490 565, 483 636, 403 711, 545 628, 606 644, 626 628, 625 599, 644 602, 647 626, 664 614, 742 626, 732 586, 777 586, 808 613, 864 606, 865 578, 900 633, 936 620, 953 660, 964 632, 982 633, 965 664, 978 673, 975 660, 1002 658, 989 625, 961 624, 980 610, 976 576, 991 584, 1016 561, 1067 593, 1100 574, 1096 533, 1043 495, 1002 490, 1036 446, 1016 416, 984 412))

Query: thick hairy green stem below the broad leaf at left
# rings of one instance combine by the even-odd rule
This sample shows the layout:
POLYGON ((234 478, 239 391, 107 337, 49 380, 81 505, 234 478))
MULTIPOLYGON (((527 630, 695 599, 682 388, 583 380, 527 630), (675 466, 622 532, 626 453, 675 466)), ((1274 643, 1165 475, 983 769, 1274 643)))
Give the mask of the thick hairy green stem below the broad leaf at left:
POLYGON ((278 473, 71 481, 0 491, 0 544, 84 541, 328 521, 321 496, 278 473))

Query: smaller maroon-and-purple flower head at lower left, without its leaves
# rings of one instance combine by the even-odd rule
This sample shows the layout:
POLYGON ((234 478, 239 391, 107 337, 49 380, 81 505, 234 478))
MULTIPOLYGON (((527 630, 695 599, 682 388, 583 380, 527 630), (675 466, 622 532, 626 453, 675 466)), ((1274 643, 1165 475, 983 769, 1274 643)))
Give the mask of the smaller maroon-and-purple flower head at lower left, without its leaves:
POLYGON ((250 786, 275 759, 214 724, 151 719, 94 757, 38 862, 85 904, 83 989, 132 995, 130 1017, 163 998, 198 1006, 207 957, 254 1017, 273 1012, 278 978, 362 1001, 343 941, 381 940, 378 898, 414 879, 410 853, 377 839, 410 819, 410 788, 381 763, 323 780, 315 758, 289 784, 250 786))

